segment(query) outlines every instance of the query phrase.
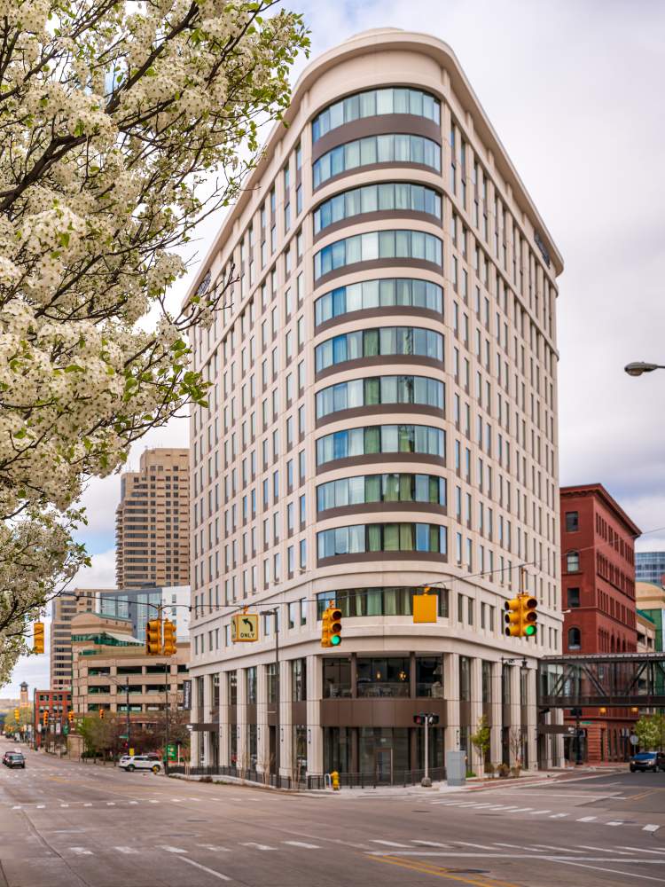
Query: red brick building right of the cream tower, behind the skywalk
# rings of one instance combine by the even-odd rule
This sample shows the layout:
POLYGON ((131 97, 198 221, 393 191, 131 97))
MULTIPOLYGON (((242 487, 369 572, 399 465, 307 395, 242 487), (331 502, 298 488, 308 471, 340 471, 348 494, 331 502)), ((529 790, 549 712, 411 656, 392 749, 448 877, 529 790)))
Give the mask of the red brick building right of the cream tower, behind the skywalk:
MULTIPOLYGON (((641 530, 601 483, 562 487, 560 505, 563 652, 635 652, 635 539, 641 530)), ((623 760, 636 719, 627 709, 584 709, 584 757, 623 760)), ((575 722, 569 712, 566 722, 575 722)))

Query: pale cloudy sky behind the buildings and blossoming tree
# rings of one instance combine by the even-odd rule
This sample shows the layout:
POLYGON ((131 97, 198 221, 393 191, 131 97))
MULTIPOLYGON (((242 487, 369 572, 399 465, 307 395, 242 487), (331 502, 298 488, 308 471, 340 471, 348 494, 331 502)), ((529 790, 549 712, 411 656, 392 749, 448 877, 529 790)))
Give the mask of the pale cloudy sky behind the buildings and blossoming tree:
MULTIPOLYGON (((373 27, 426 29, 455 51, 566 265, 559 278, 559 472, 562 485, 603 483, 665 548, 665 372, 631 379, 630 360, 665 364, 665 177, 660 0, 293 0, 312 57, 373 27), (425 27, 422 27, 425 26, 425 27)), ((297 76, 305 60, 295 69, 297 76)), ((199 256, 221 216, 200 230, 199 256)), ((196 271, 196 261, 192 273, 196 271)), ((181 281, 173 298, 187 286, 181 281)), ((172 421, 134 448, 187 445, 172 421)), ((83 497, 93 555, 77 585, 113 587, 118 475, 83 497)), ((23 660, 13 683, 46 686, 48 656, 23 660)))

